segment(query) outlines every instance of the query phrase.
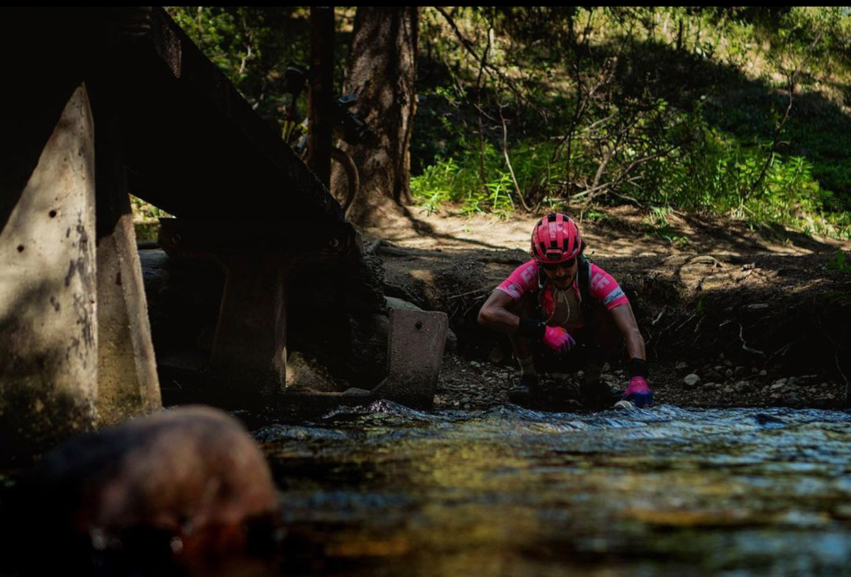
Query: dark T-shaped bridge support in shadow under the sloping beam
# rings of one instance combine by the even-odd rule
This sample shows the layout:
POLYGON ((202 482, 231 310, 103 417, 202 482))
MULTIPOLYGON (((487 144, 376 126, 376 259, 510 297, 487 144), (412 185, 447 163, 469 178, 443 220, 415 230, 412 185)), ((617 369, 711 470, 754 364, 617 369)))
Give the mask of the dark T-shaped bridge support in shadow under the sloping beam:
MULTIPOLYGON (((298 266, 290 227, 263 221, 163 219, 159 243, 177 259, 208 260, 225 274, 205 386, 220 402, 283 392, 287 284, 298 266), (287 249, 286 247, 289 247, 287 249)), ((337 243, 339 244, 339 242, 337 243)))

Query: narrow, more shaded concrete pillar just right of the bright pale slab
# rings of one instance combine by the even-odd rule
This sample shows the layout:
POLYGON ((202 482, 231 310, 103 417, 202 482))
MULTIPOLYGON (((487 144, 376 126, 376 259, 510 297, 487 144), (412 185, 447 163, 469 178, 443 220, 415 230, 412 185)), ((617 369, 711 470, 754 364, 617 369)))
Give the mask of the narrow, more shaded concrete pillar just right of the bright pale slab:
POLYGON ((163 406, 133 230, 122 134, 112 109, 120 98, 103 85, 92 90, 97 126, 99 425, 128 420, 163 406))

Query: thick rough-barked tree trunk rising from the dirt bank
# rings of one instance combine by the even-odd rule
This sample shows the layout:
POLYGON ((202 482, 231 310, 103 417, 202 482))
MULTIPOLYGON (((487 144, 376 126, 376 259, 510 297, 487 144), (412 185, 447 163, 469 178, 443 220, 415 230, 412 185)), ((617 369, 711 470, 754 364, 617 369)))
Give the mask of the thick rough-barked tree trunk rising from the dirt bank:
POLYGON ((346 90, 357 94, 356 110, 376 136, 342 147, 360 170, 361 191, 349 218, 362 226, 391 224, 406 214, 403 204, 411 202, 418 23, 418 9, 412 6, 359 6, 355 15, 346 90))

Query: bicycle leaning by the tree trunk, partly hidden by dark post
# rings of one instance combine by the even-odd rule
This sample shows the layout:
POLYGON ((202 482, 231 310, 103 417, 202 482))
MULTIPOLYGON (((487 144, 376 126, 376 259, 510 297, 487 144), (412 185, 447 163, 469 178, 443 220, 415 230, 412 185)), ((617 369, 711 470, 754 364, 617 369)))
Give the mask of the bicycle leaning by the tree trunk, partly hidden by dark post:
MULTIPOLYGON (((284 108, 284 123, 282 129, 283 140, 293 148, 295 153, 301 158, 304 163, 308 163, 310 159, 310 151, 307 149, 307 130, 309 127, 308 118, 299 121, 297 102, 300 94, 308 88, 307 70, 303 66, 290 63, 284 72, 284 91, 292 95, 292 100, 284 108)), ((345 141, 350 145, 357 145, 365 142, 372 137, 373 132, 363 121, 357 112, 351 111, 351 106, 357 103, 357 97, 354 94, 346 94, 334 100, 332 125, 334 127, 334 136, 345 141)), ((357 197, 360 191, 361 178, 357 171, 354 160, 338 146, 331 147, 331 160, 340 164, 343 172, 346 173, 346 196, 336 198, 343 208, 345 216, 351 207, 351 203, 357 197)), ((333 186, 331 188, 334 188, 333 186)), ((334 191, 331 191, 334 195, 334 191)))

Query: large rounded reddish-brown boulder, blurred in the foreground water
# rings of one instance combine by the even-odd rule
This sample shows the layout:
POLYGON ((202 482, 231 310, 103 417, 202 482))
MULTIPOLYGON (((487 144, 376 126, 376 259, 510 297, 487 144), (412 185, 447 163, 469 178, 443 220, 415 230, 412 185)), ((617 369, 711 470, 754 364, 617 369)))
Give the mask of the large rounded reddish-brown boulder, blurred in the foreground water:
POLYGON ((23 546, 44 540, 54 547, 50 555, 28 555, 24 563, 54 563, 67 574, 119 574, 84 569, 115 556, 155 563, 160 574, 197 568, 243 554, 258 538, 268 551, 279 520, 259 446, 214 408, 172 409, 74 437, 45 455, 17 490, 14 509, 0 517, 14 529, 3 535, 4 548, 16 551, 10 538, 23 546))

